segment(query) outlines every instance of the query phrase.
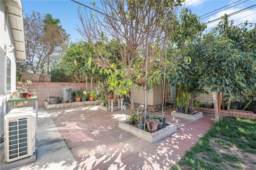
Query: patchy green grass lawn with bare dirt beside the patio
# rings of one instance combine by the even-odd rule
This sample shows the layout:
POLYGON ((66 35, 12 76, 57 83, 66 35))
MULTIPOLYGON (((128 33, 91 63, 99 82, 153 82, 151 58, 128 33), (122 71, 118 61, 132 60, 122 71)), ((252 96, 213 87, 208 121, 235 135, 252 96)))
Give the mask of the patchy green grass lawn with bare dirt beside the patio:
POLYGON ((256 170, 256 120, 223 117, 172 170, 256 170))

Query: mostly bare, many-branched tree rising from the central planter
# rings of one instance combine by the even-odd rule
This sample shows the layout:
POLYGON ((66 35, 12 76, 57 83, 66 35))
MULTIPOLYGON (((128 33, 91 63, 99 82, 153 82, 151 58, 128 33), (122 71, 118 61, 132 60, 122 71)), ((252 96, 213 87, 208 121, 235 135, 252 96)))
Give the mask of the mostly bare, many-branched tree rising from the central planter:
MULTIPOLYGON (((78 9, 80 26, 77 30, 85 40, 94 47, 94 62, 100 67, 113 67, 113 53, 102 44, 117 45, 112 48, 120 57, 115 57, 116 65, 125 71, 126 79, 132 84, 136 77, 143 78, 146 74, 146 55, 148 55, 148 75, 158 77, 162 72, 165 46, 176 26, 176 12, 180 2, 176 1, 101 1, 101 6, 94 6, 94 12, 85 8, 78 9), (101 42, 101 43, 98 43, 101 42), (104 52, 103 52, 104 51, 104 52), (134 65, 137 63, 138 65, 134 65), (134 69, 135 67, 135 69, 134 69)), ((95 5, 95 4, 94 4, 95 5)), ((152 83, 153 78, 148 81, 152 83)), ((156 79, 155 84, 159 84, 156 79)), ((134 108, 133 89, 130 89, 131 108, 134 108)))

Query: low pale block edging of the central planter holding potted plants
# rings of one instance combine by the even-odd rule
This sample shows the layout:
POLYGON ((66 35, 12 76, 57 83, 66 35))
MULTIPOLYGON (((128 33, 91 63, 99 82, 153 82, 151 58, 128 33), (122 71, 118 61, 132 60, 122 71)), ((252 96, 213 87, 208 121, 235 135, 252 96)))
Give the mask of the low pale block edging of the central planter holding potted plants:
POLYGON ((129 132, 139 138, 142 138, 150 143, 154 143, 168 135, 171 135, 173 132, 177 130, 177 126, 173 123, 166 122, 168 126, 157 130, 156 132, 150 133, 144 130, 140 130, 132 125, 128 125, 125 122, 119 122, 119 128, 122 130, 129 132))

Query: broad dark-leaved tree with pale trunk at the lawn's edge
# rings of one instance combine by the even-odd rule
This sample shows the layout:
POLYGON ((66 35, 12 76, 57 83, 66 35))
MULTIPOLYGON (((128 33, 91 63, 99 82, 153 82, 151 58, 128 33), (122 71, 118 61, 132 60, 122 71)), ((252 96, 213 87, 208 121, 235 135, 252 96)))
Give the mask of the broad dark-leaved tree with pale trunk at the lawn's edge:
POLYGON ((216 121, 220 114, 220 93, 237 98, 247 96, 256 87, 255 35, 255 24, 252 30, 233 26, 225 15, 198 46, 202 60, 195 71, 200 73, 200 87, 209 87, 214 97, 218 96, 218 103, 214 98, 216 121))

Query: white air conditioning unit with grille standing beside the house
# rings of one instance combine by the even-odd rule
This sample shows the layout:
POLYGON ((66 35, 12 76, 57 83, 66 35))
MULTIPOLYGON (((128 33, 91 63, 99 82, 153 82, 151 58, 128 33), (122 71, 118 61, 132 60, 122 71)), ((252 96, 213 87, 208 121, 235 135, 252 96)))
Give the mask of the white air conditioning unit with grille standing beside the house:
POLYGON ((33 109, 25 113, 15 109, 12 111, 4 117, 6 162, 31 156, 36 151, 36 116, 33 109))

